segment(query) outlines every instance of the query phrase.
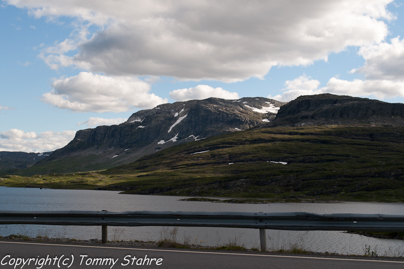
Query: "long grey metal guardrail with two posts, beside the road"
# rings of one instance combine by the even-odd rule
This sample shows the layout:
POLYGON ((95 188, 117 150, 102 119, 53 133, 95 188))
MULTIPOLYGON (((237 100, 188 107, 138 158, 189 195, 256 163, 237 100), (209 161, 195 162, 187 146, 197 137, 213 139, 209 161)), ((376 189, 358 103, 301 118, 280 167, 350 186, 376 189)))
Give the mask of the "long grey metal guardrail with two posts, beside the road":
POLYGON ((259 229, 266 250, 265 229, 357 230, 404 232, 404 215, 249 212, 155 211, 0 211, 0 224, 98 225, 107 243, 107 226, 197 226, 259 229))

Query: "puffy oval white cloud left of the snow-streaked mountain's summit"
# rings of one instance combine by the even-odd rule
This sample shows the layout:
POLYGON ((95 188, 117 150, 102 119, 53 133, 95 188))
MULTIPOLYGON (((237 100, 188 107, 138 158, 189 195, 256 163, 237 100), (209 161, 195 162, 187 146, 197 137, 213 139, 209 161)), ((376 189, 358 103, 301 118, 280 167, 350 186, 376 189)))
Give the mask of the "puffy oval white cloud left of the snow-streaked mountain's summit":
POLYGON ((149 93, 149 84, 129 76, 80 72, 55 80, 52 87, 41 100, 75 112, 123 112, 133 107, 153 108, 167 102, 167 99, 149 93))

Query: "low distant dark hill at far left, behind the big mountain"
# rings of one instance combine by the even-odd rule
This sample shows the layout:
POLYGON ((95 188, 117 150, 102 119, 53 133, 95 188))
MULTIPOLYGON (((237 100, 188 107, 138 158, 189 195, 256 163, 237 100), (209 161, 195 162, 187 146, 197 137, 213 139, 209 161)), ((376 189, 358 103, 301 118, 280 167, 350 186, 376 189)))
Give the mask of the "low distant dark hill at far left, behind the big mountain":
POLYGON ((51 154, 52 151, 42 153, 0 151, 0 174, 10 174, 18 169, 26 169, 51 154))

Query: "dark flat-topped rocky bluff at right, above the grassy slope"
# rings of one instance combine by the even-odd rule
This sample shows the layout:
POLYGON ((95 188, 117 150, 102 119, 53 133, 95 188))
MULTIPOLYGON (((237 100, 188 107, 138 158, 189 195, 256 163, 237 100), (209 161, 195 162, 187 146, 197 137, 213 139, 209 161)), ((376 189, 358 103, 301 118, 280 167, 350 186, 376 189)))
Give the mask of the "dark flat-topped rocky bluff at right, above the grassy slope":
POLYGON ((272 126, 404 126, 404 104, 319 94, 300 96, 282 106, 272 126))

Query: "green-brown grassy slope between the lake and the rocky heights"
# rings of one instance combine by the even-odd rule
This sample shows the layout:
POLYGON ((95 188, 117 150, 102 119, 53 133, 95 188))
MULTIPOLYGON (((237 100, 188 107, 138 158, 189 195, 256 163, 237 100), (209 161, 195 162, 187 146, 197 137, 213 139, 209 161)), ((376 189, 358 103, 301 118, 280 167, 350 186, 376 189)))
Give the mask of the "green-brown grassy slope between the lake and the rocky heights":
POLYGON ((0 184, 268 201, 404 202, 403 142, 404 128, 255 128, 171 147, 103 172, 42 181, 14 176, 0 184))

